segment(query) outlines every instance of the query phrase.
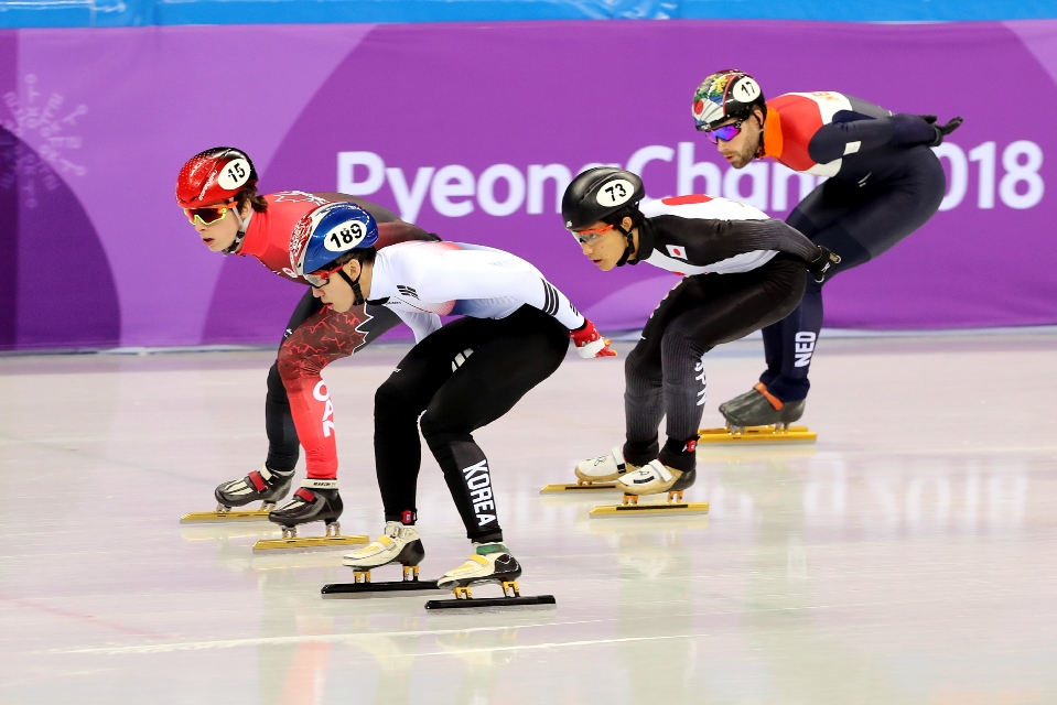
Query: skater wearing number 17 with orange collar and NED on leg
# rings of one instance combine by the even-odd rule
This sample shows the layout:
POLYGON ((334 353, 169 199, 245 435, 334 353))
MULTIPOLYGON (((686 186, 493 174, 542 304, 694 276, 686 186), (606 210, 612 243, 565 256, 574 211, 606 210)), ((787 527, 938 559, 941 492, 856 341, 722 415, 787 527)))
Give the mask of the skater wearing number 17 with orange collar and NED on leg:
MULTIPOLYGON (((734 169, 769 156, 794 171, 829 177, 786 219, 840 258, 827 279, 883 254, 936 214, 947 184, 929 148, 962 122, 893 115, 830 91, 765 101, 759 84, 736 69, 704 79, 693 95, 693 119, 734 169)), ((720 404, 727 425, 788 425, 800 419, 821 327, 822 280, 808 280, 800 305, 764 328, 767 369, 759 382, 720 404)))

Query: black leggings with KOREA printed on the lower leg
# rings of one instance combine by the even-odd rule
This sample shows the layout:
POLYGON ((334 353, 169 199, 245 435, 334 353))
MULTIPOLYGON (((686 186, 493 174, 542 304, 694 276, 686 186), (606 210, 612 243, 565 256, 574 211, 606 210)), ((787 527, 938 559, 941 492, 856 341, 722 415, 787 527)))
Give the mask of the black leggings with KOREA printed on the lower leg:
POLYGON ((501 541, 488 460, 472 432, 550 377, 568 348, 569 330, 531 306, 500 321, 460 318, 411 348, 375 393, 375 465, 386 521, 414 520, 422 459, 416 422, 422 414, 422 436, 466 535, 501 541))

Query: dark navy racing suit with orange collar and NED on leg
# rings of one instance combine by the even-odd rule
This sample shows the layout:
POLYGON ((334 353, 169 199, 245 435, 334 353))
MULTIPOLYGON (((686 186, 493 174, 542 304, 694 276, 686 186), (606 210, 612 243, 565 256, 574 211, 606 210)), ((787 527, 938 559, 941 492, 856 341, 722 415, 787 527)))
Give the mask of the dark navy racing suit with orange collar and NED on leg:
MULTIPOLYGON (((842 94, 787 94, 767 102, 764 155, 829 177, 786 219, 841 257, 827 281, 884 253, 936 214, 947 183, 928 147, 935 139, 918 116, 892 115, 842 94)), ((821 328, 822 284, 809 276, 800 305, 763 332, 767 370, 759 380, 781 401, 807 398, 821 328)))

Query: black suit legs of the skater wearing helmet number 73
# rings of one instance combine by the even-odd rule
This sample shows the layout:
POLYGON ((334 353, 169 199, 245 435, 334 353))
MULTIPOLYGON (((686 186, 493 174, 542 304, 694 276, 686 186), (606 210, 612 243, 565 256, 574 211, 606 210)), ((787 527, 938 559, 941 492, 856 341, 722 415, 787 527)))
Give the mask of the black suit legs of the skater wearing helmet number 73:
POLYGON ((704 410, 702 357, 785 318, 803 295, 805 271, 803 261, 778 254, 742 274, 687 276, 668 292, 624 365, 628 463, 659 457, 679 470, 694 468, 687 443, 697 440, 704 410), (665 415, 668 441, 660 448, 657 427, 665 415))

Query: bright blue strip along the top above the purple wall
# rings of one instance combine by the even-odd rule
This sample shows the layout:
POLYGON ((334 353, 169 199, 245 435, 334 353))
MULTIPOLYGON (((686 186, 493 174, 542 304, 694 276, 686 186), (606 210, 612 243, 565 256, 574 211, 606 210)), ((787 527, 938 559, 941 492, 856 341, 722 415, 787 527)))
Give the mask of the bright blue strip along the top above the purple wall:
POLYGON ((1057 18, 1057 0, 0 0, 0 28, 664 19, 1057 18))

